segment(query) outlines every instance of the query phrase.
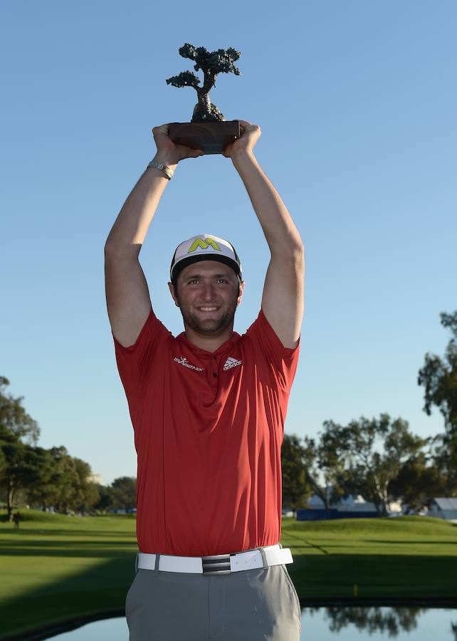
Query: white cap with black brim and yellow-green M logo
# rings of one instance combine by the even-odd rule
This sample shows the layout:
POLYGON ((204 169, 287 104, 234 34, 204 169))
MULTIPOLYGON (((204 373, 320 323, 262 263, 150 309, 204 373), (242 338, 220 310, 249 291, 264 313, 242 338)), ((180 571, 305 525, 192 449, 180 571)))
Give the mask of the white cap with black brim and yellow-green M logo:
POLYGON ((229 265, 242 280, 240 259, 233 245, 211 234, 192 236, 177 246, 170 267, 170 280, 177 278, 184 267, 198 261, 219 261, 229 265))

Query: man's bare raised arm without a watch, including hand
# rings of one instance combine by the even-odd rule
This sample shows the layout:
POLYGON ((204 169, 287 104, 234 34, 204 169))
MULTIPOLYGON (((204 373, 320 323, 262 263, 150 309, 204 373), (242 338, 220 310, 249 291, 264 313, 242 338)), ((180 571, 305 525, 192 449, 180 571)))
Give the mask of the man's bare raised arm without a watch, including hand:
POLYGON ((286 348, 298 345, 303 320, 305 251, 288 209, 258 164, 253 147, 261 135, 258 125, 240 120, 241 137, 226 147, 247 189, 270 248, 263 286, 263 313, 286 348))

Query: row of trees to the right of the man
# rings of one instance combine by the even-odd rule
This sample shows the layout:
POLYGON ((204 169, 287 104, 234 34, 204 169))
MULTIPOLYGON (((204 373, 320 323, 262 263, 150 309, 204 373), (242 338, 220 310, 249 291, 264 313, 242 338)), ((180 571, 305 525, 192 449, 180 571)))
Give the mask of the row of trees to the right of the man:
POLYGON ((417 383, 424 386, 424 412, 438 407, 444 432, 421 438, 406 420, 381 414, 347 425, 325 421, 317 438, 303 442, 285 434, 284 505, 304 507, 317 494, 329 508, 361 494, 386 516, 393 501, 416 512, 436 496, 457 496, 457 312, 441 313, 441 324, 452 333, 445 356, 427 353, 417 383))

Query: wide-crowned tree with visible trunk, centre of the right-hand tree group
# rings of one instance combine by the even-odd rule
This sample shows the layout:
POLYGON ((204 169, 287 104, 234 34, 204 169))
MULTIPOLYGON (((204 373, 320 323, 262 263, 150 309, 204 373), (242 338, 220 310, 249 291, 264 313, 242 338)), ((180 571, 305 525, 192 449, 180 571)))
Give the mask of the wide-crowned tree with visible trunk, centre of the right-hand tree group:
POLYGON ((371 420, 361 417, 346 427, 327 421, 325 427, 332 430, 338 443, 347 487, 352 484, 353 490, 358 489, 364 499, 374 503, 380 515, 386 516, 389 483, 399 474, 401 465, 424 447, 426 440, 411 434, 407 421, 400 418, 391 421, 388 414, 371 420))

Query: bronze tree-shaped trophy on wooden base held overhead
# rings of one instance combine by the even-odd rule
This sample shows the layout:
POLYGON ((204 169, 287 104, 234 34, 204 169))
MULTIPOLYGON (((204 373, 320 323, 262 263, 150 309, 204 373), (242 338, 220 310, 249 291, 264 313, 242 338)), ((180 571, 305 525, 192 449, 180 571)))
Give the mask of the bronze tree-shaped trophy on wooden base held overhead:
POLYGON ((204 47, 195 48, 186 43, 179 48, 183 58, 195 61, 195 71, 203 71, 204 81, 200 87, 200 78, 191 71, 182 71, 179 75, 167 78, 167 85, 174 87, 194 87, 198 103, 190 123, 170 123, 168 135, 176 145, 186 145, 192 149, 201 149, 205 154, 220 154, 225 147, 240 137, 238 120, 226 120, 224 114, 209 100, 209 90, 216 87, 218 73, 241 75, 233 62, 241 56, 239 51, 229 48, 217 51, 206 51, 204 47))

